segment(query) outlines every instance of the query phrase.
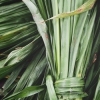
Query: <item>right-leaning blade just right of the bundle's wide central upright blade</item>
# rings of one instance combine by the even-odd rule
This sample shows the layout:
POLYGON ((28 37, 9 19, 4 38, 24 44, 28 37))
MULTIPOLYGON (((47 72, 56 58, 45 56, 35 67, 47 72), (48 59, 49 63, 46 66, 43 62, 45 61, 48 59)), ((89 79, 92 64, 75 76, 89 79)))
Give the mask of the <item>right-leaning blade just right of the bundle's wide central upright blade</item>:
POLYGON ((71 42, 71 50, 70 50, 71 52, 70 52, 70 63, 69 63, 69 66, 70 66, 69 77, 72 77, 73 74, 74 74, 73 72, 74 72, 76 57, 77 57, 77 54, 78 54, 79 44, 80 44, 80 40, 81 40, 81 37, 82 37, 82 33, 83 33, 84 25, 85 25, 85 22, 86 22, 87 14, 88 14, 88 12, 80 15, 80 18, 77 22, 77 26, 75 28, 75 33, 73 34, 73 39, 72 39, 72 42, 71 42), (82 20, 83 20, 83 23, 81 22, 82 20))

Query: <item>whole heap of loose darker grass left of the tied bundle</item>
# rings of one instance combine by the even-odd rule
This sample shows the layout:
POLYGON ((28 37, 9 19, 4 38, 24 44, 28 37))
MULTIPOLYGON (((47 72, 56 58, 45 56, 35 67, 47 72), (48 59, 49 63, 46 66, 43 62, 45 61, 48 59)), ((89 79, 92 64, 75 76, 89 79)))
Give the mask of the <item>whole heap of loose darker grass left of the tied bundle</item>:
POLYGON ((42 39, 25 4, 8 2, 0 6, 0 80, 7 78, 0 95, 8 97, 33 83, 41 84, 40 77, 47 66, 44 51, 42 39))

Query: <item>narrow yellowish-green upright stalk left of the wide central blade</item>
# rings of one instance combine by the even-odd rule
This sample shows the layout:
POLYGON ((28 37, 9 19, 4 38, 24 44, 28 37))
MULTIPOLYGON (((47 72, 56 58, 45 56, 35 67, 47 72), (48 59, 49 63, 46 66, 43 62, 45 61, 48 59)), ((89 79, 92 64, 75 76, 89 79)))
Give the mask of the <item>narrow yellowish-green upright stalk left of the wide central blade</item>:
MULTIPOLYGON (((58 14, 58 1, 52 0, 52 5, 55 5, 53 8, 53 15, 58 14)), ((55 44, 55 57, 56 57, 56 69, 57 76, 60 74, 60 27, 59 27, 59 19, 53 20, 53 28, 54 28, 54 43, 55 44)))

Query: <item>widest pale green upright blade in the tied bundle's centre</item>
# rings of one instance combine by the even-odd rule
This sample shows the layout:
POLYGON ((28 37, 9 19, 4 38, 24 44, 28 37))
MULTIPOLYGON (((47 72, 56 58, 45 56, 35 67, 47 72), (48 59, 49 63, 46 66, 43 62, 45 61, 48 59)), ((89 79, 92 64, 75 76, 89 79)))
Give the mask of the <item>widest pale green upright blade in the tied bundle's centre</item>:
MULTIPOLYGON (((64 1, 64 12, 70 11, 71 1, 64 1), (66 6, 68 4, 68 6, 66 6)), ((69 65, 69 37, 70 37, 70 17, 64 18, 61 33, 61 72, 60 78, 67 78, 69 65), (66 53, 64 53, 66 52, 66 53)))

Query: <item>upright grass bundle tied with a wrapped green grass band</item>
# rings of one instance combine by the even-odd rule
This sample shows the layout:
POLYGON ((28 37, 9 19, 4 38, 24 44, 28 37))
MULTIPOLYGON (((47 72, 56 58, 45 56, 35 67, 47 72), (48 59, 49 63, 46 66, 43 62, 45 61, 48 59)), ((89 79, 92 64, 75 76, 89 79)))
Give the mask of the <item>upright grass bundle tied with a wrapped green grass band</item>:
POLYGON ((96 35, 97 8, 92 8, 96 0, 23 1, 46 47, 50 67, 46 78, 49 99, 81 100, 86 96, 84 77, 96 35))

